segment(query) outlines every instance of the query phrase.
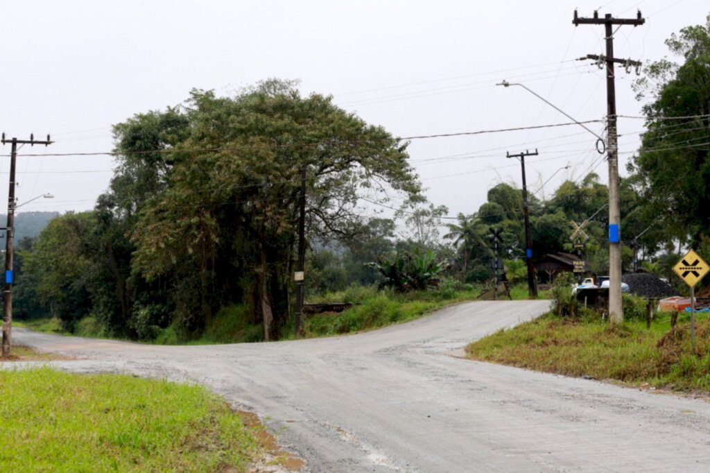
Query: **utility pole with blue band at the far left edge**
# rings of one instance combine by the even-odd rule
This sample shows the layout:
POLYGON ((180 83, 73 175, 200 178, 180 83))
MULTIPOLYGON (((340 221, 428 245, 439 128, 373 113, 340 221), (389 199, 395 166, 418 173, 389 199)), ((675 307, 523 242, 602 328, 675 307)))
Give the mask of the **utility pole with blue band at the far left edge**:
POLYGON ((3 322, 2 322, 2 356, 9 357, 12 347, 12 285, 14 282, 13 274, 13 239, 15 235, 15 168, 17 160, 17 145, 28 144, 43 144, 47 146, 52 143, 47 135, 46 141, 35 141, 35 136, 30 135, 29 140, 18 140, 12 138, 5 139, 5 134, 2 134, 2 143, 12 143, 12 151, 10 153, 10 190, 7 198, 7 239, 5 241, 5 297, 3 301, 3 322))

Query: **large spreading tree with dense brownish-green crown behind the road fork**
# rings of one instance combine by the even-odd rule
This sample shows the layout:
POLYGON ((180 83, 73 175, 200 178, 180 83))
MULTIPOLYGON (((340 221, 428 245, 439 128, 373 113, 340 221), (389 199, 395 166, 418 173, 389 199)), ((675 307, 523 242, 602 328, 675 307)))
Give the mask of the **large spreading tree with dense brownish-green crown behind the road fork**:
MULTIPOLYGON (((170 111, 175 112, 175 111, 170 111)), ((244 302, 264 337, 288 314, 301 173, 307 230, 347 239, 363 228, 359 195, 420 192, 406 143, 336 107, 271 80, 237 95, 194 91, 188 126, 155 161, 163 187, 133 230, 133 272, 175 279, 180 323, 200 330, 219 305, 244 302)), ((117 127, 119 139, 121 128, 117 127)))

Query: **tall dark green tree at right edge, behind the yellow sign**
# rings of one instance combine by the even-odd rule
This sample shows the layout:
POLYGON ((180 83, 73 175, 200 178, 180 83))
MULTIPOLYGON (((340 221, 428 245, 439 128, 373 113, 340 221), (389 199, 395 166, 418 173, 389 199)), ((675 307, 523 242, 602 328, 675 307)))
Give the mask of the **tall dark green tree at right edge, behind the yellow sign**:
POLYGON ((669 239, 697 243, 710 227, 710 17, 666 45, 678 61, 652 62, 636 84, 650 99, 648 131, 630 170, 638 173, 645 220, 660 218, 669 239))

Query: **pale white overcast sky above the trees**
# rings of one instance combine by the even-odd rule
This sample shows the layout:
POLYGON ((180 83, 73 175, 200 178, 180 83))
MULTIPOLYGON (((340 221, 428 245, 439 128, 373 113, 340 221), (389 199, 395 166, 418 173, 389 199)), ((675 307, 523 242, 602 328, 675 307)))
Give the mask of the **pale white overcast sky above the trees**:
MULTIPOLYGON (((0 130, 43 137, 22 153, 110 151, 111 125, 164 109, 193 87, 219 94, 268 77, 298 79, 304 94, 332 94, 339 106, 395 136, 556 124, 568 120, 520 82, 578 120, 606 114, 603 74, 583 55, 603 53, 603 26, 572 25, 594 9, 646 24, 616 33, 618 58, 657 60, 663 41, 702 24, 706 0, 567 1, 14 1, 4 2, 0 41, 0 130)), ((617 73, 618 113, 638 115, 631 83, 617 73)), ((601 124, 590 125, 601 134, 601 124)), ((638 147, 643 120, 619 124, 621 167, 638 147)), ((606 162, 579 126, 415 140, 411 162, 427 195, 449 214, 475 212, 486 190, 520 185, 506 151, 535 148, 528 186, 550 195, 561 180, 606 162), (570 165, 569 169, 563 168, 570 165)), ((9 145, 1 150, 9 154, 9 145)), ((88 210, 111 178, 109 157, 19 157, 22 210, 88 210)), ((6 209, 9 158, 0 161, 6 209)), ((624 171, 622 171, 623 173, 624 171)))

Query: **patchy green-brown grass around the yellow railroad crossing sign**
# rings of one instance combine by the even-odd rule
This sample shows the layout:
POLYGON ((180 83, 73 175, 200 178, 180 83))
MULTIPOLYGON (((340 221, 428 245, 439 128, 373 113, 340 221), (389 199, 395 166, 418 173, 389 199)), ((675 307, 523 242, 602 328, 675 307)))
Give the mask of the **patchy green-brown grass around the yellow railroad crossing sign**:
POLYGON ((640 320, 611 327, 599 318, 545 315, 473 342, 466 351, 473 359, 568 376, 710 391, 710 320, 697 320, 694 353, 689 332, 684 314, 672 331, 667 315, 650 330, 640 320))

